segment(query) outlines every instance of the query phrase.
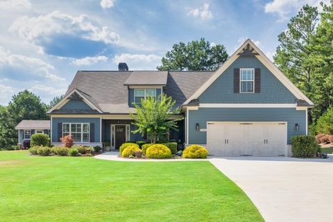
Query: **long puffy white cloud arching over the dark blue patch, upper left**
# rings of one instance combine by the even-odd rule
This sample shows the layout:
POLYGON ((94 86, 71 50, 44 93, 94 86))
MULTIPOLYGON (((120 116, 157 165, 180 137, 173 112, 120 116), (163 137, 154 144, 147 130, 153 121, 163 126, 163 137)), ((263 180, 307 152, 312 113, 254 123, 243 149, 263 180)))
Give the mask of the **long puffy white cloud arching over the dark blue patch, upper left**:
POLYGON ((119 35, 110 31, 107 26, 94 26, 86 15, 73 17, 53 11, 39 17, 20 17, 10 26, 10 31, 17 31, 19 37, 28 41, 42 38, 45 42, 51 40, 51 35, 77 35, 85 40, 117 44, 119 35))

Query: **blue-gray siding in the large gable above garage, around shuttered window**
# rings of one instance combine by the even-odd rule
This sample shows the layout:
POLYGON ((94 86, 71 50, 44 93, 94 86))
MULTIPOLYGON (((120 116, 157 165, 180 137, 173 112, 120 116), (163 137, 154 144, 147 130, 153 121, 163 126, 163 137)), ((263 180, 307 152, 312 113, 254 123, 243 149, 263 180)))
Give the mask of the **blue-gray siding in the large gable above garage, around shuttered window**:
POLYGON ((296 97, 255 57, 240 57, 203 94, 200 103, 295 103, 296 97), (260 68, 260 93, 234 93, 234 68, 260 68))

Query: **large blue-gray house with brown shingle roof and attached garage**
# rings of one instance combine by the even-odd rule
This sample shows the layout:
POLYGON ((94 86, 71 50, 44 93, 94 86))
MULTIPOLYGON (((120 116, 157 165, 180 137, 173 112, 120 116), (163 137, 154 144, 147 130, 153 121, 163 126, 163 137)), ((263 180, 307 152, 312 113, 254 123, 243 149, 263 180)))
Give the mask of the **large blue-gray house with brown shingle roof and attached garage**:
MULTIPOLYGON (((133 102, 167 94, 182 108, 179 131, 166 137, 200 144, 211 155, 290 154, 293 135, 307 135, 313 103, 246 40, 216 71, 78 71, 64 99, 47 112, 51 142, 73 135, 76 143, 114 149, 134 135, 133 102)), ((177 117, 175 117, 177 118, 177 117)))

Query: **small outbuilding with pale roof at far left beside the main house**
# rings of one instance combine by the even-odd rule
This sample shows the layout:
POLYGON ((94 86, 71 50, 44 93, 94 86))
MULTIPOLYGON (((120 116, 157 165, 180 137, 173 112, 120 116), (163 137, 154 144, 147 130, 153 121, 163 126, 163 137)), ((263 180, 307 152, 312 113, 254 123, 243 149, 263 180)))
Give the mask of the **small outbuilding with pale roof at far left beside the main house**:
POLYGON ((22 120, 16 127, 19 134, 19 144, 22 144, 24 139, 31 139, 35 133, 49 134, 49 120, 22 120))

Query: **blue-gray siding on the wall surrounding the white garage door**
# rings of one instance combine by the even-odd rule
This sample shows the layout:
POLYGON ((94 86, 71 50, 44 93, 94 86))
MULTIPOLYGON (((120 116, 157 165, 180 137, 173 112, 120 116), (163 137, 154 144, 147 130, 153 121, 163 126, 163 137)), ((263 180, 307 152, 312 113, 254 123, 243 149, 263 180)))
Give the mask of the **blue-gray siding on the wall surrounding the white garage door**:
POLYGON ((189 110, 188 144, 207 144, 207 133, 196 130, 207 128, 207 121, 287 121, 287 139, 290 144, 294 135, 306 134, 306 112, 295 108, 199 108, 189 110), (300 129, 295 130, 298 123, 300 129))

